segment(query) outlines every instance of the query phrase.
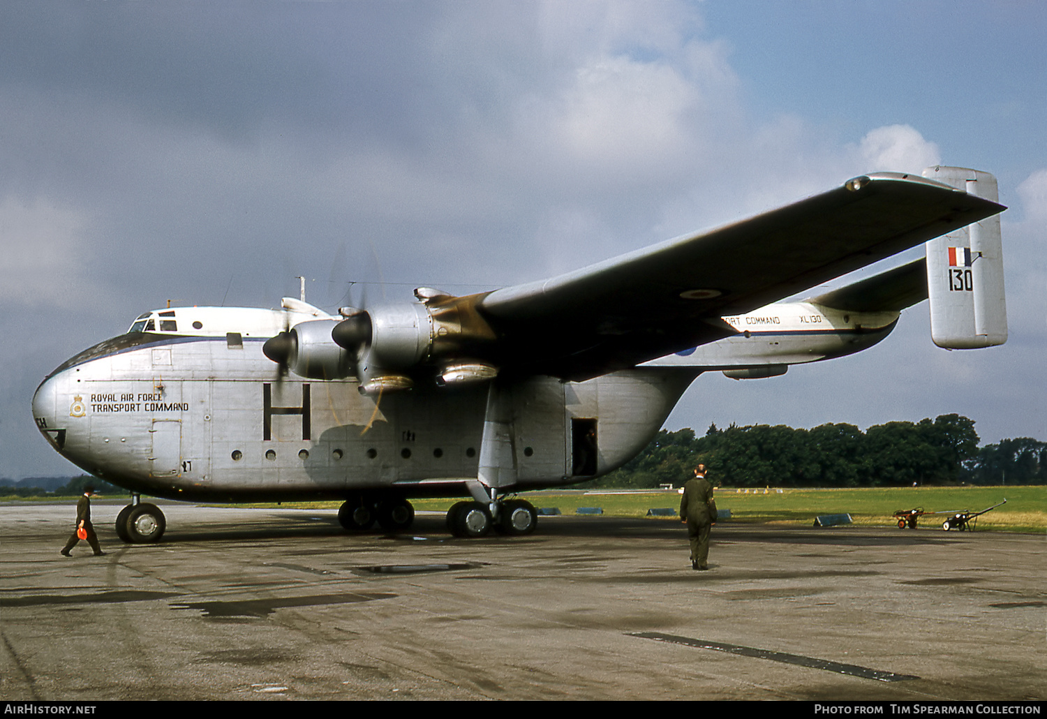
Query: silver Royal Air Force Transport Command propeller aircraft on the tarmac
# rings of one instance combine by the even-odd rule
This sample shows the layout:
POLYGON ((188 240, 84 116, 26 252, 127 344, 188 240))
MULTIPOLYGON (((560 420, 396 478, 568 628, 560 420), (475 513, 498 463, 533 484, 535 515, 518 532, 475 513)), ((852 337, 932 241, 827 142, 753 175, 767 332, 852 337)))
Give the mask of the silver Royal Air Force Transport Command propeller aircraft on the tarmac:
POLYGON ((493 292, 420 288, 338 316, 290 298, 147 312, 48 375, 32 413, 63 456, 131 492, 129 542, 165 526, 139 494, 337 498, 346 529, 387 531, 410 524, 411 498, 462 496, 454 535, 528 534, 537 513, 517 492, 620 467, 704 372, 774 377, 864 350, 928 296, 939 345, 1005 341, 996 180, 925 176, 856 177, 493 292), (920 243, 926 259, 771 304, 920 243))

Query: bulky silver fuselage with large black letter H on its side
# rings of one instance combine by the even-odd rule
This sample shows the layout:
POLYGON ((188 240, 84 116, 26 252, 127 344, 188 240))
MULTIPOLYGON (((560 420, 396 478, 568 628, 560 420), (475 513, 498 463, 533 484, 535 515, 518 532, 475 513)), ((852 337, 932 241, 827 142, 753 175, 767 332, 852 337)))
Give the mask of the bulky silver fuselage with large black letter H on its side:
MULTIPOLYGON (((509 382, 511 489, 570 485, 620 467, 703 372, 782 374, 787 364, 870 346, 897 318, 896 312, 854 314, 844 321, 838 314, 803 304, 768 306, 726 318, 736 337, 645 366, 584 382, 544 376, 509 382), (579 457, 585 451, 579 432, 595 435, 587 465, 579 457)), ((236 321, 231 314, 220 329, 236 321)), ((355 378, 281 376, 262 354, 264 339, 132 331, 48 376, 34 397, 34 417, 63 456, 136 493, 214 501, 468 494, 464 482, 477 475, 488 382, 420 384, 371 397, 358 391, 355 378)))

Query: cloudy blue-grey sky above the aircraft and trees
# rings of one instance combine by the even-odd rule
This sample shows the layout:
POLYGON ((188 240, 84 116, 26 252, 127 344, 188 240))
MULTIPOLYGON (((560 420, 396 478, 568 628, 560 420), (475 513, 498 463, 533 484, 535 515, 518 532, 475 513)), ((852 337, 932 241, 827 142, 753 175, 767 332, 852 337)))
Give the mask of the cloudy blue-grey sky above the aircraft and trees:
POLYGON ((169 299, 476 292, 934 163, 999 179, 1006 345, 935 347, 925 302, 667 426, 1047 440, 1045 37, 1034 0, 2 3, 0 476, 76 471, 34 390, 169 299))

